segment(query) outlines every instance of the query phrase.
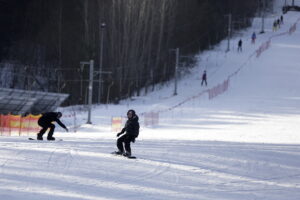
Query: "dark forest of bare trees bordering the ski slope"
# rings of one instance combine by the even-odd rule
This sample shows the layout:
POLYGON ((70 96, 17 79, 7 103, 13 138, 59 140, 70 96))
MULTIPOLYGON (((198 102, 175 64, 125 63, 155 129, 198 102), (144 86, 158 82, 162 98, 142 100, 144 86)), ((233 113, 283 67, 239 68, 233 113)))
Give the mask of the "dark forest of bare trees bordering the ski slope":
POLYGON ((226 15, 237 22, 233 28, 242 29, 261 5, 261 0, 2 1, 0 67, 12 76, 5 87, 65 92, 69 104, 82 104, 88 68, 80 62, 93 59, 96 71, 102 66, 110 72, 101 74, 101 82, 95 74, 94 102, 139 96, 174 77, 172 50, 180 48, 185 56, 180 61, 188 64, 182 67, 192 66, 194 55, 227 37, 226 15))

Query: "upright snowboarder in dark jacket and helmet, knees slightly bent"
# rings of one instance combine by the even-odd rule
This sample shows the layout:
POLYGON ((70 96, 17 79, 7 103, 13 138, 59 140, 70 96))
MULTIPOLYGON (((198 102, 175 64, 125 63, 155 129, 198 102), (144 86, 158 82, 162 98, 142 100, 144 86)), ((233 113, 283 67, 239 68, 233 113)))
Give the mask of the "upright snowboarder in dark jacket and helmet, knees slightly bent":
POLYGON ((130 148, 130 142, 135 142, 135 138, 139 135, 139 117, 136 115, 134 110, 128 110, 127 112, 128 120, 126 121, 126 124, 122 131, 117 134, 117 137, 122 135, 117 140, 117 147, 119 151, 116 152, 116 154, 124 155, 124 156, 131 156, 131 148, 130 148), (124 152, 124 146, 125 146, 125 152, 124 152))

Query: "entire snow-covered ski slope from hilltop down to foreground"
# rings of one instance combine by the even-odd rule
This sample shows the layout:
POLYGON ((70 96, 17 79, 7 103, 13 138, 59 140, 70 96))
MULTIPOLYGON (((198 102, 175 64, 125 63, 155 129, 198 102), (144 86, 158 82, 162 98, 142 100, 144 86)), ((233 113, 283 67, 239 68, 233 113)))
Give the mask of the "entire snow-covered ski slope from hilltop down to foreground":
MULTIPOLYGON (((93 109, 92 125, 64 141, 0 137, 2 200, 299 200, 300 199, 300 13, 259 20, 243 31, 243 52, 225 53, 226 41, 199 55, 192 73, 173 86, 134 101, 93 109), (280 34, 280 35, 279 35, 280 34), (276 36, 276 37, 274 37, 276 36), (256 57, 266 41, 270 47, 256 57), (203 70, 208 86, 201 87, 203 70), (209 100, 207 89, 230 77, 229 88, 209 100), (159 125, 144 127, 130 160, 113 156, 112 116, 159 112, 159 125)), ((65 111, 67 112, 67 111, 65 111)), ((78 114, 86 121, 86 113, 78 114)), ((68 119, 62 119, 71 124, 68 119)))

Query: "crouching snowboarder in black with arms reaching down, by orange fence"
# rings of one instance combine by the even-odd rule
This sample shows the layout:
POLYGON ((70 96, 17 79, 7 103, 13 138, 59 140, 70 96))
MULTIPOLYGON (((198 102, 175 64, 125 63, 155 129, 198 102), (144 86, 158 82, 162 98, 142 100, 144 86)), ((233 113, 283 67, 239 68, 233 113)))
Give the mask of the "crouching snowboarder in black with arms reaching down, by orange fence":
POLYGON ((61 112, 43 113, 38 120, 38 124, 42 127, 42 129, 37 134, 37 139, 43 140, 44 133, 47 131, 48 128, 50 128, 47 140, 55 140, 55 138, 53 137, 55 125, 52 122, 57 122, 62 128, 64 128, 68 132, 68 128, 59 120, 61 116, 61 112))

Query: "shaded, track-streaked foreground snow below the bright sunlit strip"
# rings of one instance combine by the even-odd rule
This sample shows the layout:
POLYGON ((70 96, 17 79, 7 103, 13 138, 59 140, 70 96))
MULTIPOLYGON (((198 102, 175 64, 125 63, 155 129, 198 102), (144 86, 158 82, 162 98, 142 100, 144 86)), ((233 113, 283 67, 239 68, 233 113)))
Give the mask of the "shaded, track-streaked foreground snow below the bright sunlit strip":
POLYGON ((221 199, 224 193, 273 199, 274 192, 274 199, 280 199, 282 191, 300 191, 300 161, 291 162, 299 158, 298 145, 164 141, 164 151, 150 154, 146 151, 155 149, 156 141, 144 141, 136 149, 141 155, 130 160, 106 152, 114 141, 64 141, 58 146, 5 138, 3 143, 18 153, 1 165, 0 194, 28 192, 27 199, 221 199))

